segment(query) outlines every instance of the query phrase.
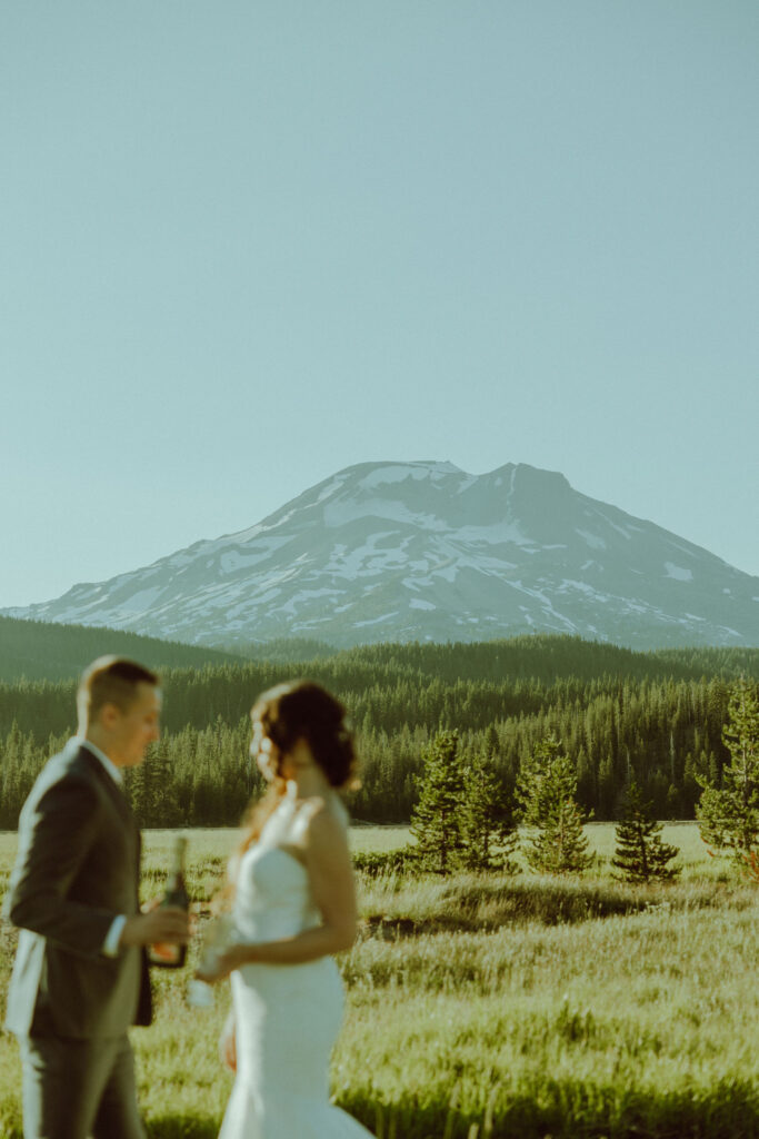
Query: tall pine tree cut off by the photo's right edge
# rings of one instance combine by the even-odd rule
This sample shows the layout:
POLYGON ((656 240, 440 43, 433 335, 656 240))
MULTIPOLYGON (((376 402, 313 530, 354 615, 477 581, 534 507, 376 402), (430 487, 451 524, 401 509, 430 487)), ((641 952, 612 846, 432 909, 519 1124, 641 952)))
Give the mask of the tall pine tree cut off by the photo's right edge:
POLYGON ((731 762, 723 768, 721 787, 699 778, 703 794, 696 817, 703 841, 743 865, 759 849, 759 698, 744 678, 732 686, 723 741, 731 762))

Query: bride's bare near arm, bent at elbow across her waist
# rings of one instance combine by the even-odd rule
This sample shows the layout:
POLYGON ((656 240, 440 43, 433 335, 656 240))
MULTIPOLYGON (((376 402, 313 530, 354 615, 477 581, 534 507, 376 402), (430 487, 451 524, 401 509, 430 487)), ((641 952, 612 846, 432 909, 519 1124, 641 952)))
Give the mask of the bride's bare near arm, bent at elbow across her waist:
POLYGON ((356 892, 345 823, 330 811, 311 819, 304 844, 305 866, 322 923, 292 937, 257 944, 232 945, 220 958, 213 977, 218 981, 241 965, 300 965, 349 949, 356 936, 356 892))

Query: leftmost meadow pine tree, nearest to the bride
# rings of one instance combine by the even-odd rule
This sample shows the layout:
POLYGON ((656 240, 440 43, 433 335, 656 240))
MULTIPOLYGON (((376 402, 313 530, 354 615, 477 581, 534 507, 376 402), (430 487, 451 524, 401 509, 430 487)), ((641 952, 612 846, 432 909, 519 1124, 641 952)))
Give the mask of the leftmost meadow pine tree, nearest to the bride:
POLYGON ((412 812, 420 866, 435 874, 451 874, 461 865, 463 837, 461 802, 464 773, 459 759, 459 734, 440 731, 422 755, 419 803, 412 812))

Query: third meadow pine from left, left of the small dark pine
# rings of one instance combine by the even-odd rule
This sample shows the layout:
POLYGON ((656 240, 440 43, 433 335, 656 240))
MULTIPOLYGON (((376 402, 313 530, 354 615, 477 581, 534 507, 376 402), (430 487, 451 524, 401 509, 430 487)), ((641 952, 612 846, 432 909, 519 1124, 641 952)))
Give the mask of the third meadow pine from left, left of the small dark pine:
POLYGON ((543 874, 581 874, 593 862, 577 805, 577 775, 554 735, 534 747, 517 785, 522 819, 533 828, 527 861, 543 874))

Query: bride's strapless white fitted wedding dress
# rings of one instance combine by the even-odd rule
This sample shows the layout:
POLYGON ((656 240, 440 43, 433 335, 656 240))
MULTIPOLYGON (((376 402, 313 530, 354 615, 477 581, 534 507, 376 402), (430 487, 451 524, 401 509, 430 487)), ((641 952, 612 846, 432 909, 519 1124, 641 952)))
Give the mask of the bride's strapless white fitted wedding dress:
MULTIPOLYGON (((305 867, 272 841, 289 808, 282 804, 237 868, 233 917, 244 941, 274 941, 321 921, 305 867)), ((330 1052, 343 1017, 332 958, 245 965, 231 981, 237 1077, 218 1139, 371 1139, 329 1101, 330 1052)))

